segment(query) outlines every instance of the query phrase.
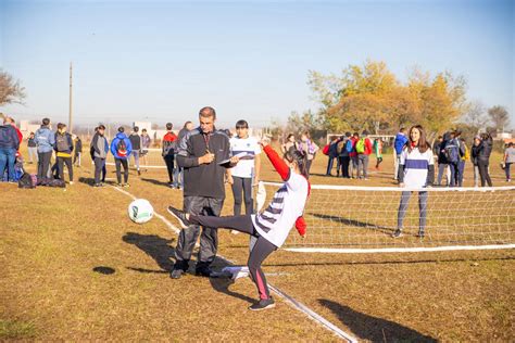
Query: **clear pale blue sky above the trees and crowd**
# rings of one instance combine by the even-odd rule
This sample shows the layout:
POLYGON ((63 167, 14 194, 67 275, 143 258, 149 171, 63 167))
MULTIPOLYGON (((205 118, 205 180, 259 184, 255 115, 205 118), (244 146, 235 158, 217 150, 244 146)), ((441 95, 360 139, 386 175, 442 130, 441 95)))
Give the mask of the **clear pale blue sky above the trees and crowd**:
POLYGON ((366 59, 468 80, 468 98, 515 124, 512 1, 7 1, 0 66, 22 80, 16 118, 181 125, 212 105, 221 126, 317 109, 307 71, 366 59))

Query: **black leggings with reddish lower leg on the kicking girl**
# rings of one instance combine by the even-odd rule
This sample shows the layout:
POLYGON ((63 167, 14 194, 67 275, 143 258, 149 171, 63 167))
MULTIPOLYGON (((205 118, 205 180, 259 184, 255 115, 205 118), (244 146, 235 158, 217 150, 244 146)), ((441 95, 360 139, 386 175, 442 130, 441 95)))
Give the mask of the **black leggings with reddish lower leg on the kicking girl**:
POLYGON ((277 246, 258 233, 254 225, 252 224, 250 215, 230 217, 190 215, 189 221, 208 228, 233 229, 258 238, 254 247, 250 252, 249 262, 247 265, 249 266, 252 281, 254 281, 255 287, 258 288, 260 298, 265 300, 271 297, 268 284, 266 283, 265 275, 261 269, 261 264, 266 257, 268 257, 269 254, 277 250, 277 246))

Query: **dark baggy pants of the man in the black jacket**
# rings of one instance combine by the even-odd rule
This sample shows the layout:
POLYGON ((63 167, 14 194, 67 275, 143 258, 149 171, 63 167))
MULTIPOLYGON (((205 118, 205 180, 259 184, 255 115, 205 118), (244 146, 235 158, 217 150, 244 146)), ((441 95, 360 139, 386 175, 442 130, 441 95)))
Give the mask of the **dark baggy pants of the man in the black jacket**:
MULTIPOLYGON (((185 196, 184 211, 192 215, 219 216, 224 199, 205 198, 205 196, 185 196)), ((188 262, 193 253, 194 243, 200 233, 200 226, 193 225, 184 229, 179 233, 177 246, 175 249, 175 266, 176 269, 188 269, 188 262)), ((200 234, 200 250, 197 258, 197 269, 209 267, 218 249, 218 231, 216 227, 203 226, 200 234)))

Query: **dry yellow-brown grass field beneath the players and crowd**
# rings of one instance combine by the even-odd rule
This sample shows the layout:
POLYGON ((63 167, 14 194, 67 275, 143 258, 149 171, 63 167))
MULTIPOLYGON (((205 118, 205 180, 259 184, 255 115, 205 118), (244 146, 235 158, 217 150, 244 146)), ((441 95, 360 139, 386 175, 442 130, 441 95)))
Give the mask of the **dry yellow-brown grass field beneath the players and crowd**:
MULTIPOLYGON (((321 176, 325 164, 318 156, 312 183, 393 186, 390 156, 367 183, 321 176)), ((492 163, 494 185, 503 186, 498 169, 492 163)), ((133 224, 128 196, 88 185, 87 158, 75 172, 81 181, 66 191, 0 183, 0 340, 338 340, 282 301, 273 310, 247 310, 256 297, 248 279, 234 284, 192 275, 169 279, 176 234, 158 218, 133 224)), ((263 179, 278 180, 268 163, 263 179)), ((164 181, 164 170, 141 177, 131 172, 127 190, 172 220, 165 208, 180 206, 183 196, 164 181)), ((224 213, 231 206, 227 192, 224 213)), ((219 254, 244 264, 248 238, 221 230, 219 254)), ((359 340, 507 342, 515 338, 514 258, 513 250, 364 255, 282 250, 264 270, 271 283, 359 340)))

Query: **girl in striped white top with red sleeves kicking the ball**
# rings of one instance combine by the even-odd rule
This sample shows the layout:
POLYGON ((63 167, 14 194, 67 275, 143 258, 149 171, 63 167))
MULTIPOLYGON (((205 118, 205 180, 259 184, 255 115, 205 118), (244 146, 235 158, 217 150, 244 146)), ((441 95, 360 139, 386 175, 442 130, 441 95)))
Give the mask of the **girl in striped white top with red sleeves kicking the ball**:
MULTIPOLYGON (((252 215, 214 217, 193 215, 172 206, 168 207, 168 212, 177 218, 183 228, 188 228, 190 225, 226 228, 248 233, 256 239, 250 252, 248 266, 258 288, 260 301, 249 307, 251 310, 275 307, 261 265, 269 254, 285 243, 293 225, 299 233, 305 237, 306 225, 302 215, 311 189, 307 181, 307 158, 303 152, 290 149, 280 158, 267 141, 263 140, 261 145, 285 181, 264 212, 252 215)), ((236 165, 238 161, 238 157, 234 156, 230 163, 236 165)))

